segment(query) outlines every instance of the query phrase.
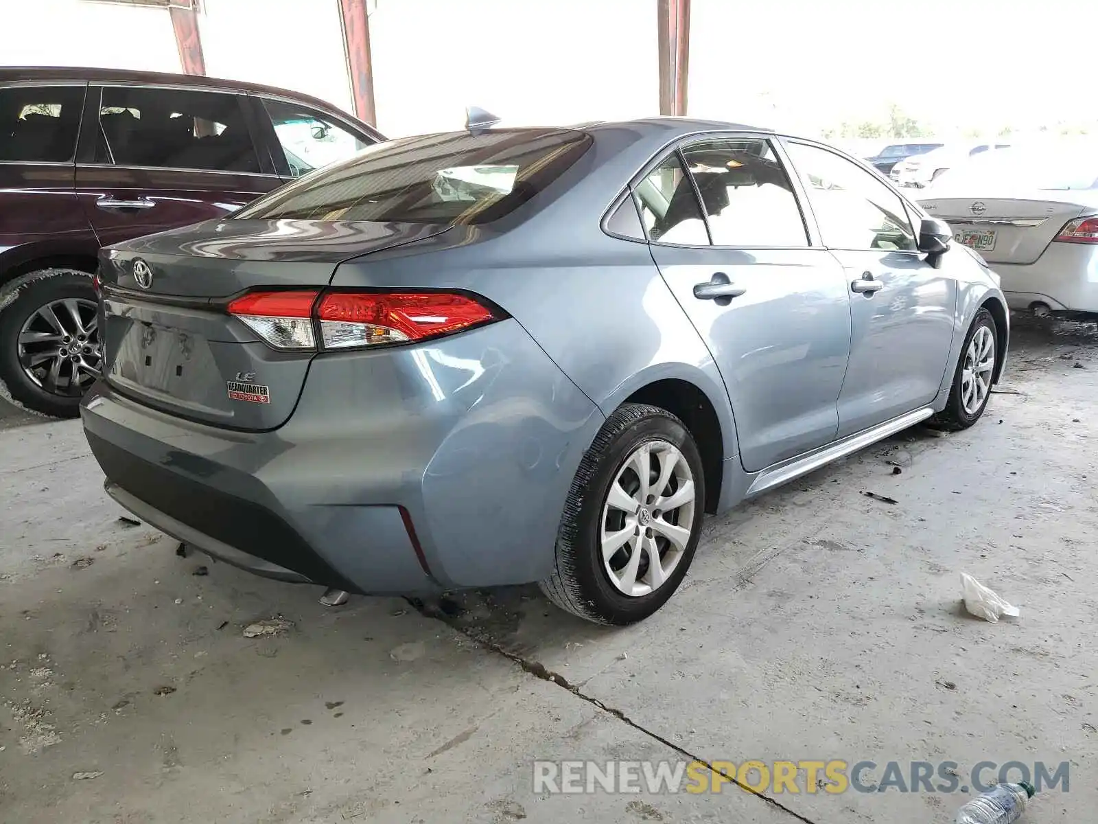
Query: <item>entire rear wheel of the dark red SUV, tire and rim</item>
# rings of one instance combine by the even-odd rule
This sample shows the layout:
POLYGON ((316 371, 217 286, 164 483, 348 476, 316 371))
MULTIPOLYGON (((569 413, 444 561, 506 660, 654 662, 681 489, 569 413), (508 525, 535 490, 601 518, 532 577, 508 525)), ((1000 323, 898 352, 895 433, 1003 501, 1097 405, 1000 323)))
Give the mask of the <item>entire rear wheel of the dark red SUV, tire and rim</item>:
POLYGON ((98 299, 91 276, 40 269, 0 291, 0 380, 16 404, 75 417, 99 376, 98 299))

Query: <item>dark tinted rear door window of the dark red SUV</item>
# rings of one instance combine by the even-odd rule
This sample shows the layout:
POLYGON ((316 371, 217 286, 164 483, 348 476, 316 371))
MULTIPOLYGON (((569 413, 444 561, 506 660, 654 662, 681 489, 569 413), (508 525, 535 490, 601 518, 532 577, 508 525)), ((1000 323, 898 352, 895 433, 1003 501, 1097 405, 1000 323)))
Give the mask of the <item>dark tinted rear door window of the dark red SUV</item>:
POLYGON ((104 87, 97 163, 258 172, 259 158, 236 94, 104 87))

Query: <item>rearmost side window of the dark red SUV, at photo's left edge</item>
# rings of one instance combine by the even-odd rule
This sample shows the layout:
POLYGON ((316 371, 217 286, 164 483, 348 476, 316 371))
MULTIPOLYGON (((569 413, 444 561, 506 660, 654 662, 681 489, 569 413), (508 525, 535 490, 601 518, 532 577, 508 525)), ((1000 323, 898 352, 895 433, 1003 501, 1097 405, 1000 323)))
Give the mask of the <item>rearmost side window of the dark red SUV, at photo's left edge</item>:
POLYGON ((0 160, 71 160, 80 129, 83 92, 83 86, 0 89, 0 160))

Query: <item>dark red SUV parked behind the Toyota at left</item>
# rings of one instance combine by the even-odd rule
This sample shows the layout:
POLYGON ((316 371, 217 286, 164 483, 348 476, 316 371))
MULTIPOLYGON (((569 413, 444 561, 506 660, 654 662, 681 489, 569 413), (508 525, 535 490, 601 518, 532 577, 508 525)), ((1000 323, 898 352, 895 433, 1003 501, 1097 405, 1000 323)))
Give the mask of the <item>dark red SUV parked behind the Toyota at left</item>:
POLYGON ((226 214, 380 140, 264 86, 0 68, 0 393, 78 413, 100 359, 101 246, 226 214))

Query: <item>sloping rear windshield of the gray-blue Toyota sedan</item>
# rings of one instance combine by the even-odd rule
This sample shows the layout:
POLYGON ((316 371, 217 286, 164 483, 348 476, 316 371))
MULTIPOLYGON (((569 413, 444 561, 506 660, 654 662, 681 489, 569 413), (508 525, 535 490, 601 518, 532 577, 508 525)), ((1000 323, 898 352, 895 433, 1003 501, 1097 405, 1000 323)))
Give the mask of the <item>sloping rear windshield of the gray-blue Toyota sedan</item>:
POLYGON ((234 218, 488 223, 545 189, 591 143, 571 130, 451 132, 380 143, 234 218))

